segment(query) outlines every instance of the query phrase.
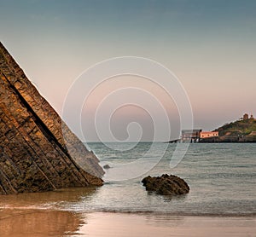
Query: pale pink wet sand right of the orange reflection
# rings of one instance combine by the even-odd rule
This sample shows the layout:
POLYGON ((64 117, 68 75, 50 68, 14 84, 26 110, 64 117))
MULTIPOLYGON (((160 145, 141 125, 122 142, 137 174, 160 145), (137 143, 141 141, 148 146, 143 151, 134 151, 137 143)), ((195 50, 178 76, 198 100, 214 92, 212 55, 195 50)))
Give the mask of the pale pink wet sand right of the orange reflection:
POLYGON ((86 236, 256 236, 256 217, 177 217, 91 213, 86 236))

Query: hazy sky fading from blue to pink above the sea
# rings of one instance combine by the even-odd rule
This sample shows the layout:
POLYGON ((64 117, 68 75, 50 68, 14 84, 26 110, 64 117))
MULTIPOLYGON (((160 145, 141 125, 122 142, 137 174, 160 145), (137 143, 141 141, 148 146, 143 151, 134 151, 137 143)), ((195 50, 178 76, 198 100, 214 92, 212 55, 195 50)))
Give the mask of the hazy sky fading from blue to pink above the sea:
MULTIPOLYGON (((256 117, 256 1, 0 0, 0 6, 1 42, 59 114, 73 84, 88 68, 133 56, 154 61, 175 75, 188 95, 195 128, 214 130, 243 113, 256 117)), ((160 114, 158 109, 167 114, 171 138, 187 129, 180 119, 183 108, 165 86, 143 75, 117 75, 102 84, 94 84, 95 78, 84 78, 76 92, 93 89, 89 97, 84 94, 81 121, 73 119, 80 101, 72 101, 70 116, 64 118, 81 139, 98 140, 97 108, 102 108, 101 125, 112 107, 108 96, 117 90, 124 93, 113 96, 112 103, 124 96, 126 100, 122 107, 112 107, 108 124, 119 141, 127 139, 130 125, 135 132, 131 137, 141 136, 143 141, 154 140, 154 122, 162 124, 160 131, 168 130, 163 120, 154 121, 152 114, 160 114), (136 97, 138 89, 139 95, 148 92, 144 99, 136 97), (147 96, 161 107, 154 107, 147 96)))

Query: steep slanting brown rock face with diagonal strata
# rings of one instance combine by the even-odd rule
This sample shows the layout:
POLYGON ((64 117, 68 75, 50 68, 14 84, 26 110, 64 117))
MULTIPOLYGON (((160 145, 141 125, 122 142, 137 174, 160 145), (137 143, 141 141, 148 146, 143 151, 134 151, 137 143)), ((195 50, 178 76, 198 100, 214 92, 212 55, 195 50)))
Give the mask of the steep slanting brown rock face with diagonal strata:
POLYGON ((102 185, 103 174, 0 43, 0 194, 102 185))

